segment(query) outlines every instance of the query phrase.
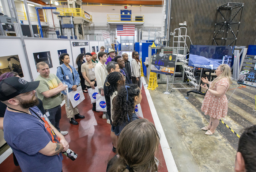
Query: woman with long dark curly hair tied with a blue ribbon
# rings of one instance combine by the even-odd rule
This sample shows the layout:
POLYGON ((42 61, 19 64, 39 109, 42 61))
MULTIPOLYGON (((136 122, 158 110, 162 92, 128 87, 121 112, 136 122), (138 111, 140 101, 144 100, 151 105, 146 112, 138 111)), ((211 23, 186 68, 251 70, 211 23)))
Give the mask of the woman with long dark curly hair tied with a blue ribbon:
POLYGON ((111 131, 117 136, 129 122, 139 119, 135 114, 135 106, 141 102, 141 99, 141 90, 136 84, 125 85, 118 91, 116 99, 113 101, 111 128, 111 131))

